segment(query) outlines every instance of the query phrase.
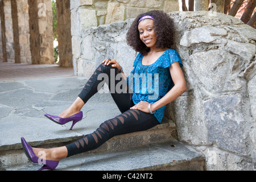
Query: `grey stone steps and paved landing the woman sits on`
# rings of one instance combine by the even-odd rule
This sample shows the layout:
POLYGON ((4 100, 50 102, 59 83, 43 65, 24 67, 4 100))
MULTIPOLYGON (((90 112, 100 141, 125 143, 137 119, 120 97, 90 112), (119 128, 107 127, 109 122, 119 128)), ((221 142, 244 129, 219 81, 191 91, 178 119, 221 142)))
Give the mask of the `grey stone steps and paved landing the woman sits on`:
MULTIPOLYGON (((92 133, 103 121, 119 114, 109 94, 96 94, 86 103, 82 110, 84 118, 72 131, 69 130, 71 123, 61 126, 43 116, 44 113, 56 115, 67 108, 81 90, 77 89, 77 85, 82 86, 84 82, 81 78, 73 77, 42 79, 40 84, 37 80, 0 83, 5 84, 0 92, 0 170, 34 171, 40 168, 27 159, 20 137, 24 137, 32 147, 63 146, 92 133), (54 87, 44 86, 49 83, 54 87), (67 85, 67 89, 63 84, 67 85), (69 89, 71 84, 75 85, 75 90, 69 89), (29 96, 29 99, 24 98, 22 104, 7 100, 10 92, 19 94, 18 98, 29 96)), ((164 118, 161 125, 150 130, 119 135, 96 150, 63 159, 55 170, 204 169, 204 156, 178 142, 175 123, 164 118)))

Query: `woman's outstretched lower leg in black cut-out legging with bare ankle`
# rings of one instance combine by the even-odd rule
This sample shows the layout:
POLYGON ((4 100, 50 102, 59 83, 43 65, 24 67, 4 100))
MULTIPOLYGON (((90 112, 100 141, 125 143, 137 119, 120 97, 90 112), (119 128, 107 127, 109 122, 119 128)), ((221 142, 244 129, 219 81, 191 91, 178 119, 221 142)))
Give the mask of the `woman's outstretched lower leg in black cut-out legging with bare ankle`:
POLYGON ((130 109, 113 119, 105 121, 92 134, 85 135, 84 138, 67 146, 51 149, 33 148, 33 151, 36 155, 44 151, 46 160, 59 161, 72 155, 94 150, 114 136, 148 130, 158 124, 159 122, 154 114, 130 109))

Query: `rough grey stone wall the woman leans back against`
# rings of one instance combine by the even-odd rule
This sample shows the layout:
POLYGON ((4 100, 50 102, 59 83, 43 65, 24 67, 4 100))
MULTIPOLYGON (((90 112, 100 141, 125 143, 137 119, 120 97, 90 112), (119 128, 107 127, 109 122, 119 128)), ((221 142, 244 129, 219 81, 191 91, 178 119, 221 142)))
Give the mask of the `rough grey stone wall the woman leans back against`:
MULTIPOLYGON (((181 142, 202 152, 208 170, 255 169, 256 30, 233 16, 209 11, 173 12, 175 49, 188 91, 169 104, 181 142)), ((75 73, 90 77, 105 58, 126 75, 137 53, 127 46, 133 19, 84 29, 75 38, 75 73)), ((72 27, 73 28, 73 27, 72 27)))

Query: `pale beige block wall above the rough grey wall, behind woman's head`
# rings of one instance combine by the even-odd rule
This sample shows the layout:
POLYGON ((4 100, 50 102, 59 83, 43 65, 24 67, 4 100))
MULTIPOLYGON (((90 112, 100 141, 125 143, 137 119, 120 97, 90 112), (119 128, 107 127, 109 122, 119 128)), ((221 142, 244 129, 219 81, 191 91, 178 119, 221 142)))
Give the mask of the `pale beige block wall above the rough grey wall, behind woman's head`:
POLYGON ((151 9, 165 12, 179 11, 178 0, 75 0, 71 1, 72 23, 80 28, 136 18, 138 14, 151 9), (75 20, 75 21, 74 21, 75 20))

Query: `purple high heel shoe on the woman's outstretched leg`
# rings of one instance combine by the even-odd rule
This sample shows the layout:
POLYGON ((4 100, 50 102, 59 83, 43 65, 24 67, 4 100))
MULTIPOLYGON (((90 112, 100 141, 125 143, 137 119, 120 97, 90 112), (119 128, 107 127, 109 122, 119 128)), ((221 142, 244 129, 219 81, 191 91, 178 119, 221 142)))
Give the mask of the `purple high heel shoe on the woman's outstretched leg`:
POLYGON ((33 163, 44 164, 42 168, 38 169, 38 171, 42 171, 44 169, 53 170, 58 166, 59 161, 40 159, 38 156, 35 155, 34 151, 32 150, 32 147, 26 142, 26 140, 23 137, 21 138, 21 141, 23 150, 27 158, 30 159, 33 163))

